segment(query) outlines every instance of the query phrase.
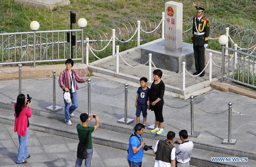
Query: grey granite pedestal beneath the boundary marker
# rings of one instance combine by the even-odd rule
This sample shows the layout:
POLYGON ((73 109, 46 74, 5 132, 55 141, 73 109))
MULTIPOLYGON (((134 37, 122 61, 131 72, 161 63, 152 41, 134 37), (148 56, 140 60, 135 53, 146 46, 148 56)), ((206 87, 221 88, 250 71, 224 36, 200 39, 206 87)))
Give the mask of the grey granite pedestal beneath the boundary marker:
POLYGON ((141 64, 148 61, 148 54, 152 54, 152 62, 157 68, 175 71, 182 69, 182 62, 186 62, 186 69, 195 68, 193 45, 182 43, 182 48, 165 48, 164 41, 160 41, 141 48, 141 64))

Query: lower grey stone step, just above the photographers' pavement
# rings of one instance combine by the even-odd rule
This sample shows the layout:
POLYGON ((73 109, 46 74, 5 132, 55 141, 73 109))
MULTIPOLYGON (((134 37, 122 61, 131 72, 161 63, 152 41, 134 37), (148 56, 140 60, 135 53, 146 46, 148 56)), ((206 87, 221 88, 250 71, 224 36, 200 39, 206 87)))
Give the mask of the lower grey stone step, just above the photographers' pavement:
MULTIPOLYGON (((10 115, 12 110, 0 109, 0 123, 14 125, 14 115, 10 115)), ((29 119, 30 129, 55 134, 59 136, 78 139, 76 125, 68 126, 63 121, 49 119, 32 115, 29 119)), ((144 135, 143 135, 144 136, 144 135)), ((128 148, 130 134, 123 134, 115 131, 99 128, 92 133, 93 143, 115 147, 126 150, 128 148)), ((154 147, 157 140, 143 138, 147 145, 154 147)), ((152 150, 146 151, 145 154, 154 156, 152 150)), ((191 156, 191 165, 199 167, 251 167, 256 164, 255 160, 248 159, 248 162, 212 162, 211 157, 234 157, 226 154, 194 148, 191 156)))

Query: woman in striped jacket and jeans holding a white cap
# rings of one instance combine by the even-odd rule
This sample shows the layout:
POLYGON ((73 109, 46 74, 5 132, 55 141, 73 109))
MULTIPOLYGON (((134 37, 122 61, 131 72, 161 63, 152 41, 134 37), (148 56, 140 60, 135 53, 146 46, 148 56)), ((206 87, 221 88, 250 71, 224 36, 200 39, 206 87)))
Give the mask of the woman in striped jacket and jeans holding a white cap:
POLYGON ((66 64, 66 69, 62 71, 59 75, 59 86, 63 90, 63 95, 65 92, 70 92, 72 105, 70 106, 69 103, 66 102, 66 100, 64 99, 65 122, 68 125, 72 125, 70 120, 71 120, 71 117, 75 116, 73 112, 78 107, 77 82, 84 83, 87 81, 89 77, 87 77, 86 79, 82 79, 79 77, 79 75, 77 75, 77 73, 72 69, 74 65, 74 61, 72 59, 67 59, 65 64, 66 64))

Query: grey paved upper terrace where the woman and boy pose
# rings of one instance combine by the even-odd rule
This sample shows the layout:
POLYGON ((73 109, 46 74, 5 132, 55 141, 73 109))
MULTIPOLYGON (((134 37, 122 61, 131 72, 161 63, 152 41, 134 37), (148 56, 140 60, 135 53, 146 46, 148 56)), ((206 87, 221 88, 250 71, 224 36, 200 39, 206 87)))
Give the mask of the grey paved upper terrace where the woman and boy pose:
MULTIPOLYGON (((91 86, 105 94, 118 94, 123 92, 125 81, 112 81, 113 77, 101 78, 91 77, 91 86), (121 83, 120 83, 121 82, 121 83)), ((116 79, 116 78, 115 78, 116 79)), ((127 81, 128 82, 128 81, 127 81)), ((139 86, 137 83, 129 83, 139 86)), ((79 86, 85 86, 79 84, 79 86)), ((129 86, 128 90, 133 98, 136 97, 137 88, 129 86)), ((35 81, 32 79, 22 80, 22 93, 30 94, 32 97, 32 108, 45 109, 52 105, 52 80, 35 81)), ((168 92, 166 92, 167 94, 168 92)), ((0 81, 0 101, 11 103, 18 94, 18 81, 0 81)), ((83 112, 88 112, 87 88, 78 90, 79 107, 75 110, 75 117, 83 112)), ((128 95, 129 96, 129 95, 128 95)), ((181 100, 164 95, 164 101, 173 107, 182 107, 189 103, 189 100, 181 100)), ((256 115, 256 99, 246 96, 212 90, 205 94, 196 96, 194 103, 201 109, 210 113, 220 113, 228 109, 228 102, 232 102, 232 109, 247 115, 256 115)), ((128 97, 128 118, 135 119, 135 101, 128 97)), ((56 88, 56 105, 64 107, 63 92, 56 88)), ((64 111, 57 113, 63 114, 64 111)), ((99 114, 101 122, 111 123, 118 126, 132 128, 136 121, 129 125, 119 124, 116 121, 124 117, 124 94, 106 96, 91 90, 91 113, 99 114)), ((164 126, 167 130, 178 133, 181 129, 190 131, 190 106, 173 109, 166 105, 163 107, 164 126)), ((208 114, 194 106, 194 129, 201 132, 199 138, 191 139, 200 143, 207 143, 218 147, 238 149, 256 154, 256 117, 246 117, 232 112, 232 138, 237 139, 234 146, 222 145, 224 138, 228 137, 228 112, 222 114, 208 114)), ((64 121, 64 120, 63 120, 64 121)), ((72 120, 71 120, 72 121, 72 120)), ((154 124, 154 113, 148 111, 147 125, 154 124)), ((75 128, 75 127, 74 127, 75 128)), ((167 132, 163 135, 165 136, 167 132)))

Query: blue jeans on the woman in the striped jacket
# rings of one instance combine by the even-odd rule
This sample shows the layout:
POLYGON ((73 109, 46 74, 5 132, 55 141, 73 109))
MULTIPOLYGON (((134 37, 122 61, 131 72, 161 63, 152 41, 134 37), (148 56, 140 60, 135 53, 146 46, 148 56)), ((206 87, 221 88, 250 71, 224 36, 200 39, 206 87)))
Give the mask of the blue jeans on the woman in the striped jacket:
MULTIPOLYGON (((65 92, 63 92, 64 95, 65 92)), ((64 99, 64 97, 63 97, 64 99)), ((78 100, 77 100, 77 91, 73 92, 73 98, 71 99, 72 105, 70 106, 69 103, 66 102, 64 99, 64 104, 65 104, 65 122, 69 122, 71 119, 69 114, 72 114, 75 109, 78 107, 78 100), (69 107, 70 106, 70 107, 69 107)))

